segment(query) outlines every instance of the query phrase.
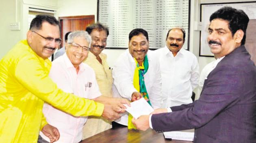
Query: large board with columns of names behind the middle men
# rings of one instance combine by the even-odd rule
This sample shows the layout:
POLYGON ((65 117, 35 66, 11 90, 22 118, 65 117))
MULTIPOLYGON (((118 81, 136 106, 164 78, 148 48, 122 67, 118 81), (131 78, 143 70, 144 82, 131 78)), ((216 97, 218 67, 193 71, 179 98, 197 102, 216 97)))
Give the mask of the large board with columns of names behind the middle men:
POLYGON ((148 32, 150 49, 165 46, 169 29, 186 32, 184 49, 189 49, 190 0, 98 0, 98 22, 109 27, 107 48, 128 48, 132 29, 148 32))

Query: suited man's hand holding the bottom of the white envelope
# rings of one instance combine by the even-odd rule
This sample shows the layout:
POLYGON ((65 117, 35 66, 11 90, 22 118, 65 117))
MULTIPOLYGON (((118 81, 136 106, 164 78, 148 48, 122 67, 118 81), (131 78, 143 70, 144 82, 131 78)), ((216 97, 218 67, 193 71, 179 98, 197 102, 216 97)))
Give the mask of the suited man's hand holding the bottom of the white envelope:
POLYGON ((139 116, 137 120, 135 118, 132 119, 132 124, 136 126, 139 130, 147 130, 150 128, 149 126, 149 115, 139 116))

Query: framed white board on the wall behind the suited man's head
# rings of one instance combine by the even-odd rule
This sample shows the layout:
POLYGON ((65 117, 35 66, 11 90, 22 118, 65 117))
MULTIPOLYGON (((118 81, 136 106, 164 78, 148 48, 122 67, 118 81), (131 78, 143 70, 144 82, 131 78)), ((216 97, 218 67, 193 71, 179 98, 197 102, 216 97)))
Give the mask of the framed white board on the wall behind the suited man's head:
MULTIPOLYGON (((254 19, 256 19, 256 1, 253 2, 231 2, 231 3, 211 3, 211 4, 201 4, 201 22, 202 30, 200 32, 200 54, 199 56, 203 57, 213 57, 213 53, 210 52, 210 47, 208 46, 207 36, 208 36, 208 27, 210 24, 210 15, 212 15, 219 8, 224 6, 231 6, 232 8, 243 10, 249 17, 250 21, 248 25, 256 25, 254 19)), ((230 13, 232 15, 232 13, 230 13)), ((255 37, 251 34, 248 34, 248 31, 255 30, 247 27, 247 38, 246 43, 250 44, 248 38, 255 37)), ((251 44, 250 44, 251 45, 251 44)))

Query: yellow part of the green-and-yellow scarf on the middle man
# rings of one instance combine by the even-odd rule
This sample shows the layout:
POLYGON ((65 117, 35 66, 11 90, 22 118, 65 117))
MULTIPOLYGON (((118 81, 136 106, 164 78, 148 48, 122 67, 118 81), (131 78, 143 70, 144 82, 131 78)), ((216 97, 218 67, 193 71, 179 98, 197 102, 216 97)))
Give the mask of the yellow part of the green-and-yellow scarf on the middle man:
MULTIPOLYGON (((139 85, 139 69, 144 69, 144 62, 142 63, 142 66, 137 67, 138 61, 133 58, 135 60, 135 70, 134 70, 134 76, 133 76, 133 86, 134 88, 140 92, 140 85, 139 85)), ((136 129, 136 127, 132 124, 132 115, 129 114, 128 116, 128 129, 136 129)))

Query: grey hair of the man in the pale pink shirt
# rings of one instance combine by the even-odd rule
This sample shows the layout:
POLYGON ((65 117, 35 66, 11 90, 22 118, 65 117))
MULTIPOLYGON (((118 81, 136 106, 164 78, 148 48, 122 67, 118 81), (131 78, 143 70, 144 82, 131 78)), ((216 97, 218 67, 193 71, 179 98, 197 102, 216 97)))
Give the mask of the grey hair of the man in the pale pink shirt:
POLYGON ((89 43, 88 47, 91 47, 91 36, 86 31, 74 31, 68 34, 67 36, 67 43, 74 42, 74 38, 82 37, 89 43))

